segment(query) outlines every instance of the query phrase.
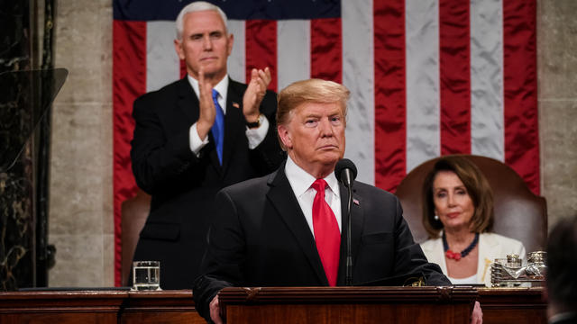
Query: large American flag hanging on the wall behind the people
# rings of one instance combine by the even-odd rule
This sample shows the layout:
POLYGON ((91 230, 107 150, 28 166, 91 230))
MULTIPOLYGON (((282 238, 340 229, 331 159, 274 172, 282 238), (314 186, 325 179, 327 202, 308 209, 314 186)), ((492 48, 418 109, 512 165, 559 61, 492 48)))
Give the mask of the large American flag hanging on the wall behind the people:
MULTIPOLYGON (((136 191, 133 100, 184 76, 173 46, 190 1, 114 0, 115 281, 121 203, 136 191)), ((320 77, 352 91, 346 157, 394 192, 427 159, 504 161, 539 193, 536 0, 221 0, 229 75, 271 68, 270 88, 320 77)))

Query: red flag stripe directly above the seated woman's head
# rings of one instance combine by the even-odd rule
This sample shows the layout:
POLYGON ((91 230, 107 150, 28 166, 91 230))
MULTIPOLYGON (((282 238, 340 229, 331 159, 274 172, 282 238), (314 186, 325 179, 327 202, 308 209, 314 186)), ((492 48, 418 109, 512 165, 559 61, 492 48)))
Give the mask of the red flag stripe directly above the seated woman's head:
POLYGON ((441 155, 471 153, 470 4, 439 1, 441 155))

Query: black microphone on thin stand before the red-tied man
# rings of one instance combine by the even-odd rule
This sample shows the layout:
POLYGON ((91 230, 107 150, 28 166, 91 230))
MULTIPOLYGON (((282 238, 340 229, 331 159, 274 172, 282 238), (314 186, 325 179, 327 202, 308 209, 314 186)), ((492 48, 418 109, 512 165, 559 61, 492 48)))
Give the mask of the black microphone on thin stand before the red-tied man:
POLYGON ((353 204, 353 182, 357 176, 357 167, 354 166, 353 161, 348 158, 343 158, 334 166, 334 175, 344 184, 349 192, 349 199, 346 204, 346 276, 345 284, 353 285, 353 252, 351 248, 351 205, 353 204))

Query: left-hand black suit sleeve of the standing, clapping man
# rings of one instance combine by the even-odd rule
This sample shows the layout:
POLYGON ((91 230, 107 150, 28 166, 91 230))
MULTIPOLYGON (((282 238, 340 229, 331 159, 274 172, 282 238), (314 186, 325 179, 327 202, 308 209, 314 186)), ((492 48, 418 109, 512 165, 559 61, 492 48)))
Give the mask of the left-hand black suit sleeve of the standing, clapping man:
POLYGON ((188 167, 198 163, 190 150, 188 129, 167 137, 160 117, 153 109, 162 104, 167 103, 160 103, 158 95, 149 94, 138 98, 133 104, 133 174, 136 184, 147 193, 173 186, 188 167))

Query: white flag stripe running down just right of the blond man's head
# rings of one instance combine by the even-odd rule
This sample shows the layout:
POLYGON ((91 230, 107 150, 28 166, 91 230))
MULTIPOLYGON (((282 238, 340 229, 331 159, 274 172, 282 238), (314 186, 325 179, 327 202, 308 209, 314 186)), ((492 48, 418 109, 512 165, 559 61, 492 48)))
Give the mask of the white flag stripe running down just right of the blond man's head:
POLYGON ((343 85, 351 90, 345 156, 362 182, 375 182, 374 46, 372 1, 342 1, 343 85))

